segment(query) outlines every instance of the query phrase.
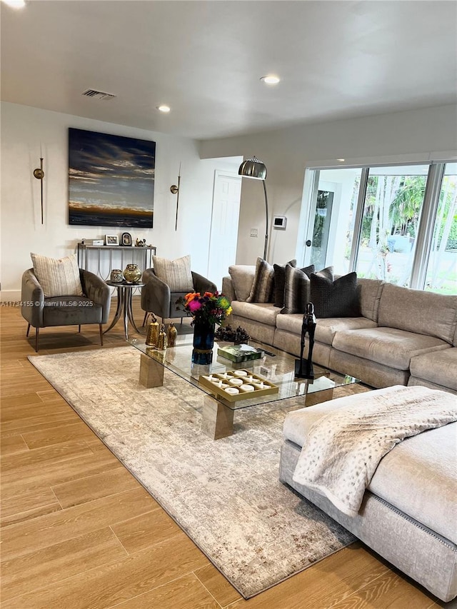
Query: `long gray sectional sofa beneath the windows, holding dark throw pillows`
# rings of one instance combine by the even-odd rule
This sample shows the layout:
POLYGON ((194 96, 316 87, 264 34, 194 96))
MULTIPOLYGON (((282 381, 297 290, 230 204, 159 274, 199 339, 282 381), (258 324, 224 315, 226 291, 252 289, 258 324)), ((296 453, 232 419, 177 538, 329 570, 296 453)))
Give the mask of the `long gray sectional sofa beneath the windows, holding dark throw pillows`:
MULTIPOLYGON (((231 326, 298 356, 302 313, 253 303, 255 266, 235 265, 222 291, 232 301, 231 326)), ((457 296, 358 279, 361 316, 318 318, 313 361, 371 387, 424 385, 457 393, 457 296)))

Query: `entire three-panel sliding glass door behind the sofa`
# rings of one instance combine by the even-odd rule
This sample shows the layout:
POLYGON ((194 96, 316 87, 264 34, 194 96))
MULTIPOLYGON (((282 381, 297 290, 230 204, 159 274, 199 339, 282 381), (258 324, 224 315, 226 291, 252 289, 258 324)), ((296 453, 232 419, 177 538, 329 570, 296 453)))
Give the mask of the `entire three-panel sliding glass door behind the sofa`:
POLYGON ((457 163, 315 169, 307 179, 303 265, 457 293, 457 163))

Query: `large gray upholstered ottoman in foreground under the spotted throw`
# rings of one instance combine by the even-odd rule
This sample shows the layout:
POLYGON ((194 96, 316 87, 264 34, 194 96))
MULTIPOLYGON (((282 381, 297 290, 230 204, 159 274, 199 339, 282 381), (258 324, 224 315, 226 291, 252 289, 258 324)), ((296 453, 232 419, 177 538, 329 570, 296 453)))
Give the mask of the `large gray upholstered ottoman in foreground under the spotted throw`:
MULTIPOLYGON (((395 391, 384 388, 366 395, 395 391)), ((457 398, 456 398, 457 399, 457 398)), ((351 396, 288 413, 279 478, 441 600, 457 595, 457 423, 406 438, 381 459, 355 518, 293 482, 311 425, 351 396)))

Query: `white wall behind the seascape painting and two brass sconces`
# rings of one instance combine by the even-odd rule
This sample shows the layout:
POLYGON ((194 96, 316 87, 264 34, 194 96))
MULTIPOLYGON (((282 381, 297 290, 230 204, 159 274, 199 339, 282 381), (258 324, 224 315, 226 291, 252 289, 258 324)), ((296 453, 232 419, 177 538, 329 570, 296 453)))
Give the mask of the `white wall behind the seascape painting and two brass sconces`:
MULTIPOLYGON (((68 128, 100 131, 156 142, 154 228, 126 229, 134 241, 146 238, 157 255, 191 254, 194 271, 208 271, 209 233, 215 169, 233 171, 224 159, 201 161, 196 142, 154 131, 1 103, 1 299, 20 297, 21 275, 31 266, 30 253, 60 258, 76 251, 81 238, 119 234, 124 228, 69 226, 68 128), (40 183, 32 175, 44 158, 44 224, 40 183), (181 163, 178 230, 175 232, 177 183, 181 163)), ((236 163, 235 163, 236 164, 236 163)), ((239 163, 238 163, 239 164, 239 163)), ((238 168, 238 164, 236 168, 238 168)))

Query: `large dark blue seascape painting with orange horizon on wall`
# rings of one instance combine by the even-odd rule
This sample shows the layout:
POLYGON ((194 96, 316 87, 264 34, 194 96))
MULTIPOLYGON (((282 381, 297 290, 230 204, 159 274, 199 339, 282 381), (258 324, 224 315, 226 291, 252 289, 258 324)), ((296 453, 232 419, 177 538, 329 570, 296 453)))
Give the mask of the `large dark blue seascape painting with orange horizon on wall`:
POLYGON ((156 143, 69 129, 69 224, 152 228, 156 143))

